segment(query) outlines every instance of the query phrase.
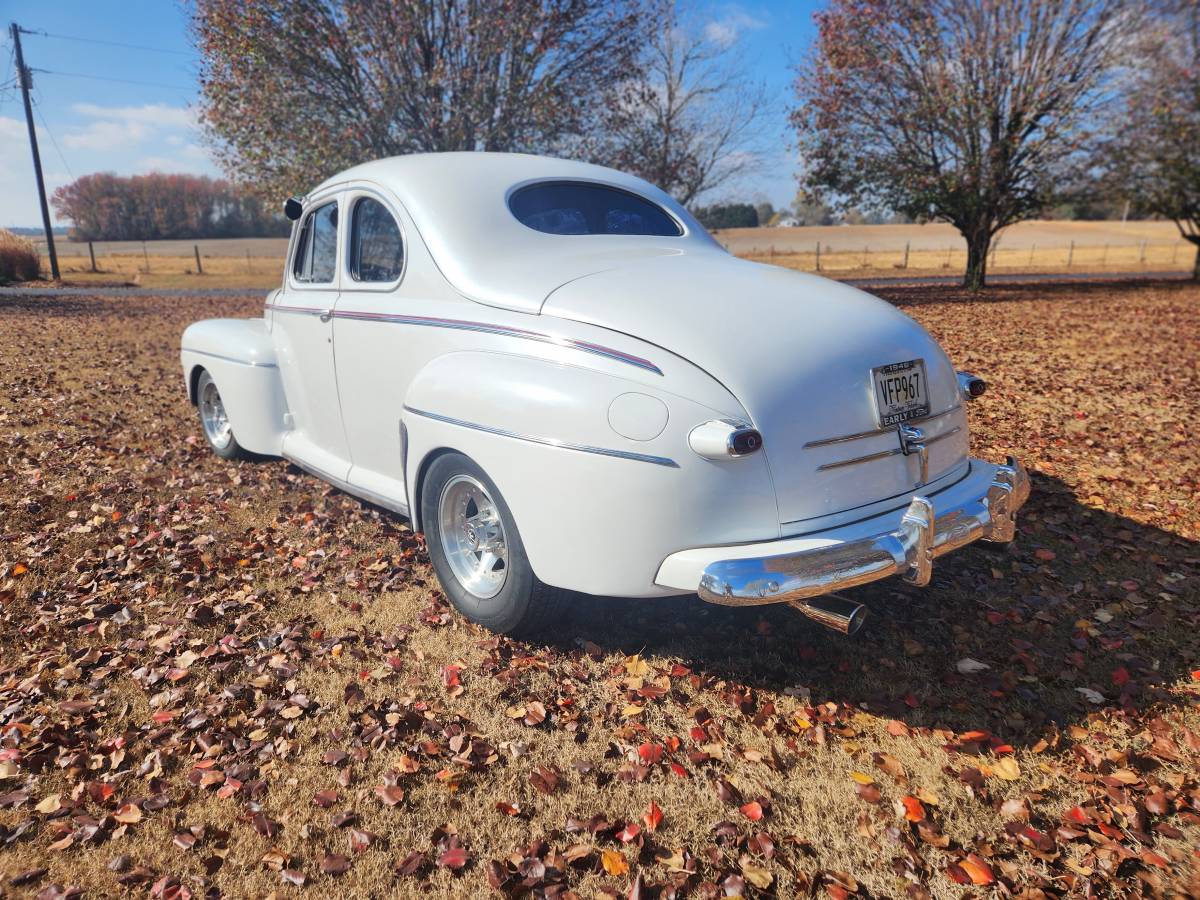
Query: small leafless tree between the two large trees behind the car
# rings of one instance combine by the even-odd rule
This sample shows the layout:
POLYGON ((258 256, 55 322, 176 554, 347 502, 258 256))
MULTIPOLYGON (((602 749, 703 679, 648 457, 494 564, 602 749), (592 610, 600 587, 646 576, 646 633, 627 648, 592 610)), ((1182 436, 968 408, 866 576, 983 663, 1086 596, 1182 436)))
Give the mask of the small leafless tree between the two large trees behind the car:
POLYGON ((674 5, 610 98, 606 134, 587 155, 641 175, 683 204, 758 164, 766 89, 736 41, 706 35, 674 5))

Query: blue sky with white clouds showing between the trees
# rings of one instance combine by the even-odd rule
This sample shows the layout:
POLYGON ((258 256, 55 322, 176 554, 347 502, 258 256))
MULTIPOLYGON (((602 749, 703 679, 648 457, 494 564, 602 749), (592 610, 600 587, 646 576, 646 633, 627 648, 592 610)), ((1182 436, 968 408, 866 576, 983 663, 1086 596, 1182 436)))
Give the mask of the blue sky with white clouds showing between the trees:
MULTIPOLYGON (((772 106, 763 121, 761 170, 725 193, 788 204, 796 193, 796 158, 786 109, 790 65, 812 37, 815 0, 722 2, 698 0, 697 26, 736 41, 748 70, 763 82, 772 106)), ((92 172, 220 174, 196 126, 197 56, 184 4, 173 0, 7 0, 0 36, 0 226, 41 223, 24 110, 13 82, 10 22, 23 35, 34 70, 35 122, 53 192, 92 172), (85 41, 67 38, 88 38, 85 41), (107 46, 115 42, 157 52, 107 46), (82 77, 86 76, 86 77, 82 77)), ((53 210, 52 210, 53 215, 53 210)))

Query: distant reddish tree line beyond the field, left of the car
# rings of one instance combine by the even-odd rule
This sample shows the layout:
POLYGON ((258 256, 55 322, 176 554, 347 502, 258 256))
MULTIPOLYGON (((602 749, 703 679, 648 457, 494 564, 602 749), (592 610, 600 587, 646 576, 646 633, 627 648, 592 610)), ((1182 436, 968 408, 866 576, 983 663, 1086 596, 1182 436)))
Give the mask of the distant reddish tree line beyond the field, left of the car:
POLYGON ((260 238, 290 224, 274 204, 203 175, 84 175, 54 192, 54 209, 76 240, 260 238))

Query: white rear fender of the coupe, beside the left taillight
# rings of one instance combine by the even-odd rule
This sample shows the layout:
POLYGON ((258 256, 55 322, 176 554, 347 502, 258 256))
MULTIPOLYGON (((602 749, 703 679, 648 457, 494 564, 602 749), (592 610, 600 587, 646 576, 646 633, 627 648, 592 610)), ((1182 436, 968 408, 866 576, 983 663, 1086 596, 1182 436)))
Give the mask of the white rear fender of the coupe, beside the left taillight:
POLYGON ((704 540, 778 536, 779 526, 766 457, 694 454, 691 428, 727 413, 668 386, 532 356, 461 352, 433 360, 403 410, 414 526, 425 467, 457 450, 504 494, 544 582, 590 594, 679 593, 654 583, 666 556, 704 540), (626 395, 636 396, 611 421, 613 401, 626 395))

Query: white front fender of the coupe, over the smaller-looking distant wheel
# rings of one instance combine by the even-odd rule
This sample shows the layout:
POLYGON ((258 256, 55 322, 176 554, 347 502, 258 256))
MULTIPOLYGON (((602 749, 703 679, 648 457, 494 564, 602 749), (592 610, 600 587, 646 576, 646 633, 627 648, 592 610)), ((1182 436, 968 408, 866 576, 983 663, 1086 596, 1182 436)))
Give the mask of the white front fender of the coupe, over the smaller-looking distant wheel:
POLYGON ((263 319, 205 319, 180 341, 187 398, 196 403, 200 370, 221 391, 234 437, 246 450, 278 456, 288 408, 275 346, 263 319))

